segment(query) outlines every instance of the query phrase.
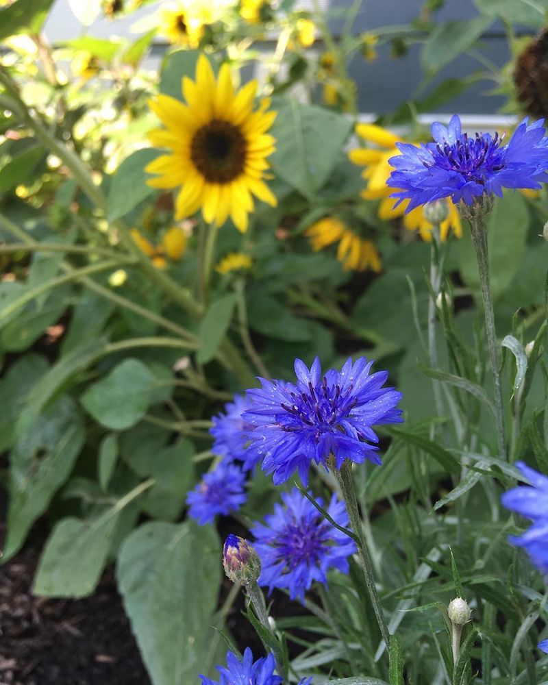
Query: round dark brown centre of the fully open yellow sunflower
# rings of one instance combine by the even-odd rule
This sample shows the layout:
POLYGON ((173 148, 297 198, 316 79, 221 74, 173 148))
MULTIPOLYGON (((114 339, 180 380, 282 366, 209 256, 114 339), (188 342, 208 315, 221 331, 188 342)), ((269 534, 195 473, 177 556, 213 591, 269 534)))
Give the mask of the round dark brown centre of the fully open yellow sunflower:
POLYGON ((229 183, 242 173, 247 143, 237 126, 213 119, 195 133, 190 158, 206 181, 229 183))

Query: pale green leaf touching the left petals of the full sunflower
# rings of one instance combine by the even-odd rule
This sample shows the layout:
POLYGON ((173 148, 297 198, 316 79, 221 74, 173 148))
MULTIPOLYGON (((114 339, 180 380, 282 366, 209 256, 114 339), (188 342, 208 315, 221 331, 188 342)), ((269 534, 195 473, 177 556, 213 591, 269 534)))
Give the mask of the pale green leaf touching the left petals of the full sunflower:
POLYGON ((155 160, 159 154, 158 150, 152 148, 137 150, 125 158, 116 169, 108 190, 109 221, 125 216, 138 203, 156 192, 154 188, 147 185, 147 179, 152 177, 145 172, 145 166, 155 160))

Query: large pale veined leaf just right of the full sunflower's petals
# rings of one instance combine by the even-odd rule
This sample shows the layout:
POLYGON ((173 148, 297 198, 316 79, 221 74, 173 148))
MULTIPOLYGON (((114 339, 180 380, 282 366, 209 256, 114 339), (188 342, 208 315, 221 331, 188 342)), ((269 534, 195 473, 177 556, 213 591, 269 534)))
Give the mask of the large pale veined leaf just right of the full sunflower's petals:
POLYGON ((315 200, 340 158, 351 130, 350 119, 314 105, 279 99, 271 134, 276 151, 271 156, 275 173, 305 197, 315 200), (321 145, 319 145, 321 141, 321 145))

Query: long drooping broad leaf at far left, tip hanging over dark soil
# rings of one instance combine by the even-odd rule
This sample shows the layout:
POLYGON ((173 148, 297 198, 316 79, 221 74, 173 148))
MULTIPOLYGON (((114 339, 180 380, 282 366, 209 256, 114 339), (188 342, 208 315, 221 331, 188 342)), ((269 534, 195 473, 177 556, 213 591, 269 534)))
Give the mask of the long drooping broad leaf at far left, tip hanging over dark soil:
POLYGON ((40 416, 18 427, 10 460, 10 507, 4 559, 20 549, 29 528, 69 477, 84 444, 77 406, 61 397, 40 416))

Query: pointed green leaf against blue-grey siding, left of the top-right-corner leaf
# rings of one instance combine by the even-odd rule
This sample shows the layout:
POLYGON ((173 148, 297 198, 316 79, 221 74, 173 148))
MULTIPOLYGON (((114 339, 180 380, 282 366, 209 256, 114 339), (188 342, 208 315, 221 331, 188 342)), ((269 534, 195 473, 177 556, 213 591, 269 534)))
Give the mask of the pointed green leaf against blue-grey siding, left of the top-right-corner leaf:
POLYGON ((439 24, 421 53, 423 69, 429 72, 443 69, 460 53, 472 47, 492 23, 492 16, 479 16, 470 21, 456 20, 439 24))

